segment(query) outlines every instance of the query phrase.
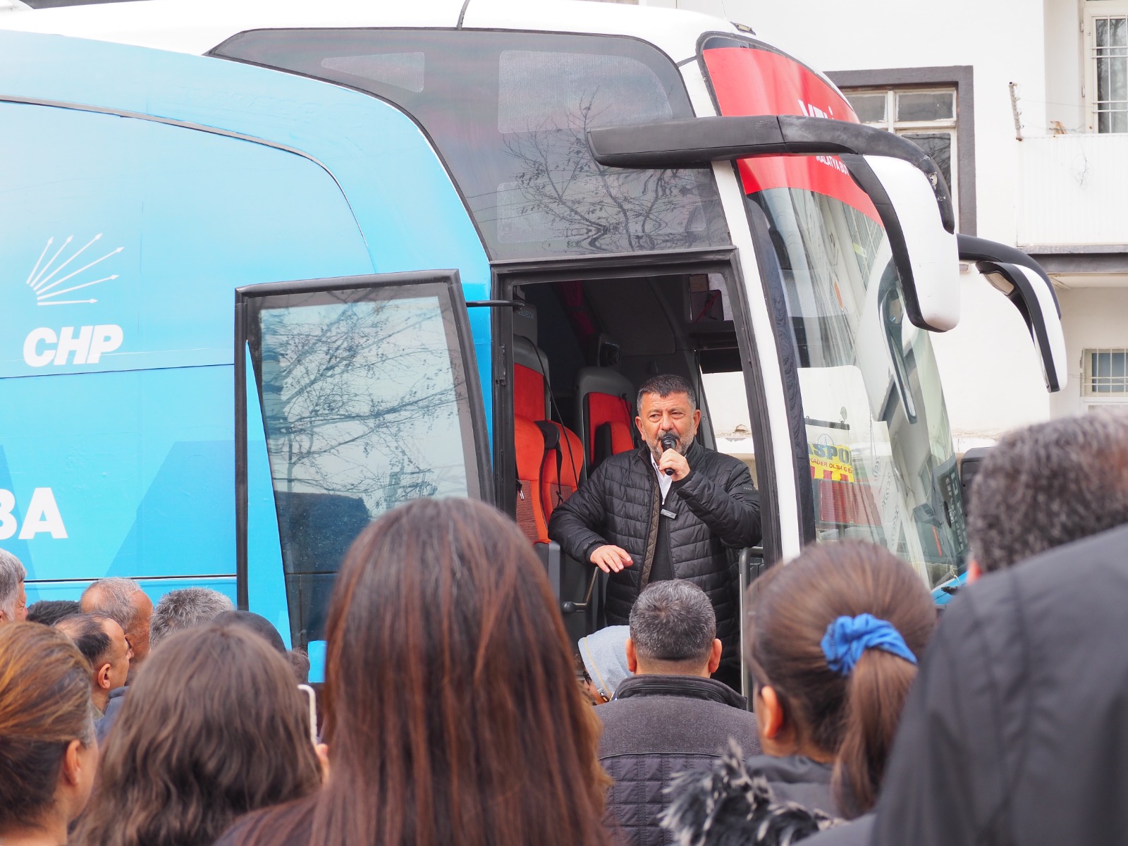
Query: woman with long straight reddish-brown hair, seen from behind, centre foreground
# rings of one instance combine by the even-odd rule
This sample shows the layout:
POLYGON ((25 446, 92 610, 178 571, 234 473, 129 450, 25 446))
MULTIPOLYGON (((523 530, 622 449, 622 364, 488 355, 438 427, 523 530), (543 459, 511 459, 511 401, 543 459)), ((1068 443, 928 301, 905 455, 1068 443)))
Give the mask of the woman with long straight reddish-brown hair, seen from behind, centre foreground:
POLYGON ((598 720, 544 566, 500 512, 382 515, 345 556, 327 640, 328 782, 221 844, 608 843, 598 720))

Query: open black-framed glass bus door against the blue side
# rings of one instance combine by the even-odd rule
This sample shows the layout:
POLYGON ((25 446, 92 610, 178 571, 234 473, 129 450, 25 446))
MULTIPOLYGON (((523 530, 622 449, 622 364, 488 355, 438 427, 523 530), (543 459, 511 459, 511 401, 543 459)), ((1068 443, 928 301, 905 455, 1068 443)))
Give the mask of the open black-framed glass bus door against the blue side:
POLYGON ((353 538, 421 496, 490 501, 486 424, 458 271, 236 291, 240 607, 284 606, 321 664, 353 538))

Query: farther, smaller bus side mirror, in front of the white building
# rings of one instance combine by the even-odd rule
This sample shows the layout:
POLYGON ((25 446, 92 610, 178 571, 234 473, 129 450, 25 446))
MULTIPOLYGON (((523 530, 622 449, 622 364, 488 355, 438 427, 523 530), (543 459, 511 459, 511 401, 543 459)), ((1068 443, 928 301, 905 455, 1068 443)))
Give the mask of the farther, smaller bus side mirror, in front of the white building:
POLYGON ((1020 249, 969 235, 958 236, 960 259, 975 262, 995 290, 1022 315, 1042 364, 1046 390, 1061 390, 1069 378, 1061 308, 1046 271, 1020 249))

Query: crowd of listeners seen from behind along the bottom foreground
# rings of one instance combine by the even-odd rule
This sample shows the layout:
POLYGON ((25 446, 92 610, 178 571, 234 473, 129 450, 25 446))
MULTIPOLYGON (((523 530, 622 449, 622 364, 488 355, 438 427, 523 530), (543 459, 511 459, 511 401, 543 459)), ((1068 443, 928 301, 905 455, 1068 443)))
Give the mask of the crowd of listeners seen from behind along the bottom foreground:
POLYGON ((970 502, 943 614, 856 540, 752 582, 747 699, 719 673, 731 608, 677 553, 573 644, 522 534, 469 500, 353 543, 319 720, 308 662, 222 594, 105 579, 25 610, 0 552, 0 844, 1128 844, 1128 420, 1007 435, 970 502))

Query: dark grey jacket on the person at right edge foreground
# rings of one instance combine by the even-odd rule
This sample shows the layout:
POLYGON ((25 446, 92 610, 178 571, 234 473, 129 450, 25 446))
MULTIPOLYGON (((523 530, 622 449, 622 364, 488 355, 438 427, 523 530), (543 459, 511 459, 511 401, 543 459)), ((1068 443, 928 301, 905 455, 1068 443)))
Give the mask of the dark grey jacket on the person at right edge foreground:
POLYGON ((1128 844, 1128 526, 960 591, 909 694, 874 846, 1128 844))

